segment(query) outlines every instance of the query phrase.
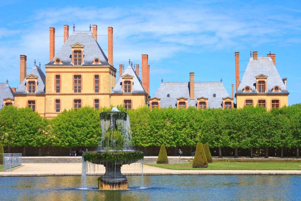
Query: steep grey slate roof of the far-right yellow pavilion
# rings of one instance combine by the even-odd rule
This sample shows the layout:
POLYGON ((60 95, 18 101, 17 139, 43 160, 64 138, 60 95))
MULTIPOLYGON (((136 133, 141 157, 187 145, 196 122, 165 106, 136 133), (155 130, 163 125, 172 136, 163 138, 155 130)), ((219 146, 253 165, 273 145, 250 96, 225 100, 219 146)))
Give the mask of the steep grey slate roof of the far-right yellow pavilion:
POLYGON ((257 94, 256 92, 256 76, 264 74, 267 77, 267 90, 268 94, 289 94, 288 90, 284 86, 283 80, 270 57, 257 57, 258 59, 250 58, 244 76, 242 77, 236 94, 257 94), (274 86, 279 86, 281 92, 272 92, 274 86), (242 90, 250 86, 252 92, 243 92, 242 90))

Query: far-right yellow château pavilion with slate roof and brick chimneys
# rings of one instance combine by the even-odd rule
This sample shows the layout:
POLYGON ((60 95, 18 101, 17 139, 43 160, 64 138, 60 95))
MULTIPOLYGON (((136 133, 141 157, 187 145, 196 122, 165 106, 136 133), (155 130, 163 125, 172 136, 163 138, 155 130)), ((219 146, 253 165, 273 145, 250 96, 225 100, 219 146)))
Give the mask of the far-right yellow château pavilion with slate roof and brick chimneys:
POLYGON ((240 80, 239 52, 235 52, 236 105, 238 108, 259 105, 267 109, 288 106, 287 78, 281 79, 276 69, 276 54, 258 57, 250 53, 246 71, 240 80))

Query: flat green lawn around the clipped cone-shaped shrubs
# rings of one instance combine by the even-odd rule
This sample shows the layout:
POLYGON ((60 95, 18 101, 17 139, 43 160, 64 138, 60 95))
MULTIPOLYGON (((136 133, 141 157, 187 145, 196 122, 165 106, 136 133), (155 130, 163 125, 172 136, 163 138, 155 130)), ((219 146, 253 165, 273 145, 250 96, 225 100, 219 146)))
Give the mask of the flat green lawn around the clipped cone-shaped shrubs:
POLYGON ((208 168, 193 168, 190 163, 156 164, 145 163, 148 166, 161 167, 170 170, 301 170, 301 163, 283 162, 224 162, 216 161, 208 164, 208 168))

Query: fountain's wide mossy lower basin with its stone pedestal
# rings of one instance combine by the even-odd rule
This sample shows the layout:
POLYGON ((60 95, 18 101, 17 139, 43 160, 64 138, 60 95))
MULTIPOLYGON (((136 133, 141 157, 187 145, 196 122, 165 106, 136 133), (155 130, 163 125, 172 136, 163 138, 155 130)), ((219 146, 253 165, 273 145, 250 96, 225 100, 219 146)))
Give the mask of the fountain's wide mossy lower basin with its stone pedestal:
POLYGON ((142 151, 90 151, 82 155, 85 161, 103 165, 104 175, 98 177, 98 189, 128 189, 129 184, 125 175, 121 173, 121 166, 135 163, 143 159, 142 151))

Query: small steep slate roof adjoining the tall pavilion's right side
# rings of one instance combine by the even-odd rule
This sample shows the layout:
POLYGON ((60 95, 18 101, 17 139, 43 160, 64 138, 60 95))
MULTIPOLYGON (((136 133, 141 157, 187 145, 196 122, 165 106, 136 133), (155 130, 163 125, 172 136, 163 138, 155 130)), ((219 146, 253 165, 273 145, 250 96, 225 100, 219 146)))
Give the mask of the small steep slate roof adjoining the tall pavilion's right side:
MULTIPOLYGON (((121 76, 124 76, 126 74, 129 74, 133 76, 133 91, 132 94, 147 94, 145 89, 142 86, 142 81, 140 78, 136 75, 134 69, 129 65, 127 68, 124 69, 123 73, 121 76)), ((112 94, 122 94, 122 85, 120 83, 122 82, 122 77, 119 76, 117 79, 116 85, 112 89, 112 94)))

